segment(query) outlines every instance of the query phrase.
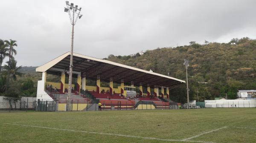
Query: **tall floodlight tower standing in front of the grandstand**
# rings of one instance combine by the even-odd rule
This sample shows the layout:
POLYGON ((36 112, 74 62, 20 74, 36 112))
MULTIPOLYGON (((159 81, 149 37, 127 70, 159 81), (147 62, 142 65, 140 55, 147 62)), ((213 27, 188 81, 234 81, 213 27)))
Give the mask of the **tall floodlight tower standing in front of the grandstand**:
MULTIPOLYGON (((69 3, 66 1, 67 7, 64 8, 64 12, 67 12, 70 18, 72 25, 72 38, 71 38, 71 51, 70 51, 70 70, 68 72, 68 94, 67 94, 67 108, 66 111, 71 111, 71 90, 72 90, 72 73, 73 73, 73 41, 74 41, 74 25, 76 24, 77 19, 81 18, 83 15, 80 14, 81 8, 78 8, 78 5, 74 6, 74 3, 69 3), (72 14, 72 15, 71 15, 72 14)), ((65 83, 64 83, 65 84, 65 83)))

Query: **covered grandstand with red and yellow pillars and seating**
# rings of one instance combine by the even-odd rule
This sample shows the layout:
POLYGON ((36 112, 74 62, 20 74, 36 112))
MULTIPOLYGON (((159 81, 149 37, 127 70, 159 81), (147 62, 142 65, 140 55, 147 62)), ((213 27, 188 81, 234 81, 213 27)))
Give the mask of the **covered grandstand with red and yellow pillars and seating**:
MULTIPOLYGON (((42 73, 42 80, 38 81, 38 101, 55 100, 59 111, 66 110, 68 84, 65 77, 69 66, 70 52, 67 52, 36 68, 42 73), (49 74, 61 80, 47 81, 49 74)), ((90 110, 98 102, 103 104, 103 109, 168 109, 169 90, 185 83, 170 76, 78 53, 73 54, 73 78, 76 78, 72 84, 73 110, 90 110), (88 85, 88 80, 95 81, 96 85, 88 85), (109 87, 102 87, 102 81, 108 82, 109 87)))

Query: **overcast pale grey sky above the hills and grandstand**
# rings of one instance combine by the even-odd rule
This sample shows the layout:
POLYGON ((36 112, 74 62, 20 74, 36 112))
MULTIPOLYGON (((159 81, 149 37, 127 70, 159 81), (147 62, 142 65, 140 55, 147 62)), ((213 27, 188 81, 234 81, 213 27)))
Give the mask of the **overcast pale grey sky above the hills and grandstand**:
MULTIPOLYGON (((158 47, 256 39, 256 0, 73 0, 83 16, 74 52, 106 58, 158 47)), ((65 0, 5 0, 0 39, 17 41, 18 65, 40 66, 70 51, 65 0)), ((7 60, 8 58, 6 58, 7 60)))

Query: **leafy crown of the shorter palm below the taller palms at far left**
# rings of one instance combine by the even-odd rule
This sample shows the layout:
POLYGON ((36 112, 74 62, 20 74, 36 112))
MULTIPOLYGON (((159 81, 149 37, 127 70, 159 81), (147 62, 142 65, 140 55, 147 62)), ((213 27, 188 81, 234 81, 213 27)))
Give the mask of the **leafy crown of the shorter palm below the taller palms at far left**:
POLYGON ((4 65, 4 69, 6 71, 5 74, 7 75, 7 78, 10 80, 16 80, 17 76, 21 76, 22 73, 18 72, 18 70, 21 69, 21 66, 17 67, 17 61, 15 61, 15 59, 11 59, 11 61, 9 62, 9 65, 4 65))

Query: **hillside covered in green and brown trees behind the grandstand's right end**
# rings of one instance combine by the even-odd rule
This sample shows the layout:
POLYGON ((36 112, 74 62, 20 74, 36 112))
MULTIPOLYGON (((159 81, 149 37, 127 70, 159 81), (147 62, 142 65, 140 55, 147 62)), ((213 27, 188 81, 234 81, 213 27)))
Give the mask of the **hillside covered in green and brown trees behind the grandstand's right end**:
MULTIPOLYGON (((209 43, 177 48, 147 50, 142 56, 113 56, 107 60, 153 70, 156 73, 186 79, 184 59, 189 59, 188 79, 191 100, 199 101, 215 97, 236 98, 237 90, 256 89, 256 40, 249 38, 232 39, 230 43, 209 43), (207 83, 203 83, 207 82, 207 83)), ((137 54, 138 55, 138 54, 137 54)), ((186 102, 186 85, 171 90, 171 98, 186 102)))

